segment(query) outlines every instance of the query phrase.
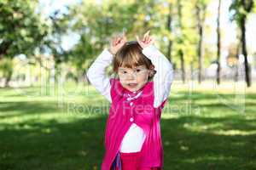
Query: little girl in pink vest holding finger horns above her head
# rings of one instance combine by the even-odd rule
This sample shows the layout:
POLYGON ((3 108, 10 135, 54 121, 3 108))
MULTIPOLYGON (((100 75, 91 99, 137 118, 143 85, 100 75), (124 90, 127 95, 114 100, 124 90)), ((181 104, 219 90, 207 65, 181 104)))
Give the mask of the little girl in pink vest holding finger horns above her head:
POLYGON ((90 83, 111 102, 105 131, 102 170, 161 170, 160 115, 168 98, 172 64, 154 47, 149 31, 143 40, 115 37, 90 66, 90 83), (113 62, 117 77, 105 69, 113 62), (153 79, 153 81, 152 81, 153 79))

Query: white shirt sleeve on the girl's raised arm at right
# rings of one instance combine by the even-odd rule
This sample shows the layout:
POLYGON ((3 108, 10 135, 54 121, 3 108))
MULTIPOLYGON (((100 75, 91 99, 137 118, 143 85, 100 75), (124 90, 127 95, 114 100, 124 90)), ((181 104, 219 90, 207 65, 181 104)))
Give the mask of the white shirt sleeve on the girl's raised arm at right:
POLYGON ((173 80, 172 63, 154 45, 143 48, 143 54, 151 60, 156 71, 153 81, 154 107, 157 108, 169 96, 173 80))

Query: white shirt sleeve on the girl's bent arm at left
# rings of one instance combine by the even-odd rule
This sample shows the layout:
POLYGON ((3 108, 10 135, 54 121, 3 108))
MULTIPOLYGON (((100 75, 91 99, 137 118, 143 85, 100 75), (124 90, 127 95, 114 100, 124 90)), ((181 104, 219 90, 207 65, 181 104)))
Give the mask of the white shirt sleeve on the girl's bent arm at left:
POLYGON ((108 101, 111 101, 110 96, 110 81, 109 77, 105 74, 105 69, 112 63, 113 54, 108 49, 104 49, 96 60, 90 65, 86 76, 90 83, 98 90, 108 101))

